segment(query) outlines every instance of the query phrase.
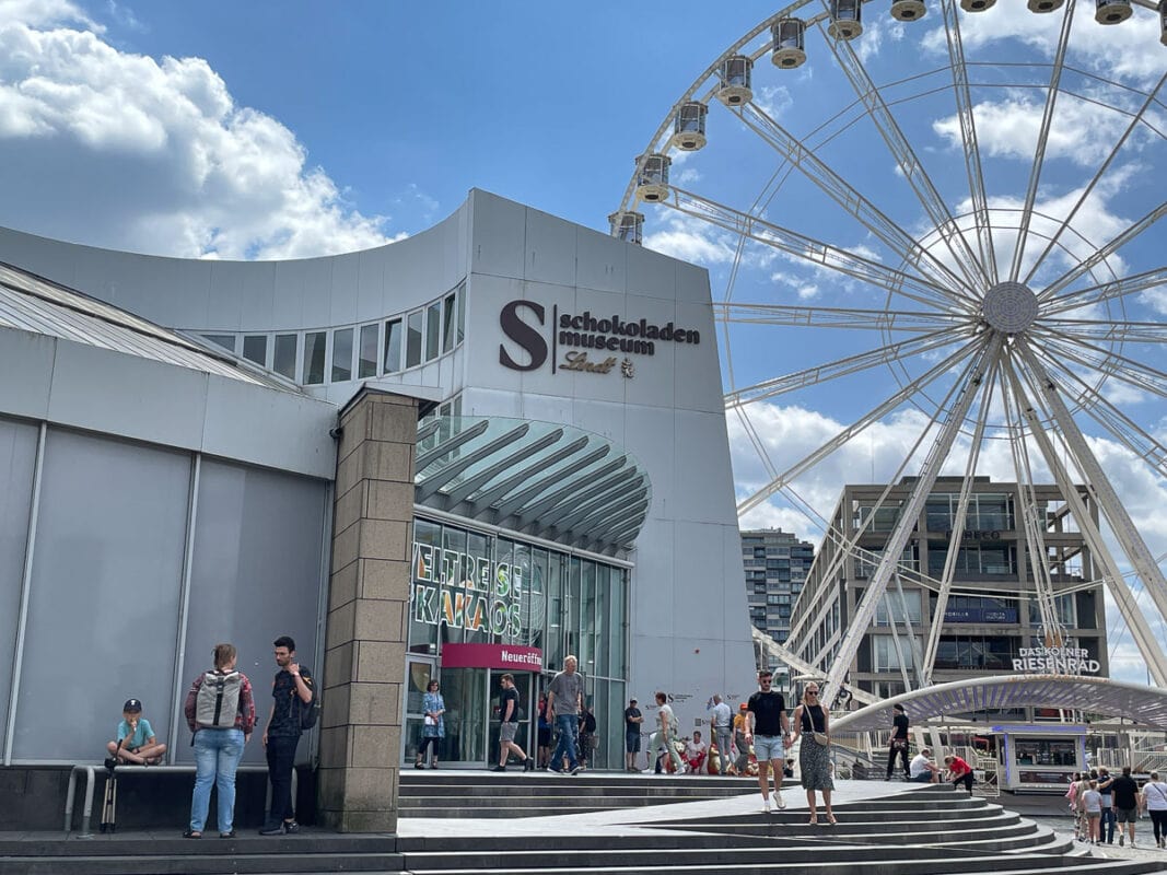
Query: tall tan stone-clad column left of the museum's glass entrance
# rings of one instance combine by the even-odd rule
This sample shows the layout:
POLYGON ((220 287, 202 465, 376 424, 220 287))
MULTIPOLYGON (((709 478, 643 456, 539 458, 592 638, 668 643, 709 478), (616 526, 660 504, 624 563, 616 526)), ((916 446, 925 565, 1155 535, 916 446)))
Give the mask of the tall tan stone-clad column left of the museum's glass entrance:
POLYGON ((340 832, 397 830, 417 424, 376 390, 341 411, 317 800, 340 832))

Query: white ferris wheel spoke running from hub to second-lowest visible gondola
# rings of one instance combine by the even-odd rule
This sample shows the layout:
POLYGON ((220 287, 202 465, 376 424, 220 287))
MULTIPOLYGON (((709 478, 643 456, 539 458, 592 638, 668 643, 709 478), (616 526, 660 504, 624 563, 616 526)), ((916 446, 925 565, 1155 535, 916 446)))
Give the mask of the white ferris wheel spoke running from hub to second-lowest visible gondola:
POLYGON ((693 216, 732 233, 748 237, 792 256, 808 266, 827 268, 860 280, 882 292, 902 295, 943 312, 953 309, 953 300, 946 289, 911 276, 903 271, 886 267, 878 261, 847 252, 840 246, 791 231, 692 191, 676 187, 670 187, 669 191, 671 200, 666 202, 668 205, 686 216, 693 216))

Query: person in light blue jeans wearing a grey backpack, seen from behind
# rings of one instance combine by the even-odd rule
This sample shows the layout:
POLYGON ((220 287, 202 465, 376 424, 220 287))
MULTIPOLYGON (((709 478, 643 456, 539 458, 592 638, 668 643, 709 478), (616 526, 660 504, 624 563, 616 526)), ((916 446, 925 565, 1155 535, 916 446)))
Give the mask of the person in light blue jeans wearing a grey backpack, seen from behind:
POLYGON ((215 667, 195 678, 187 692, 183 713, 194 734, 195 790, 184 839, 203 838, 211 784, 217 791, 219 838, 235 838, 235 774, 256 728, 251 681, 236 671, 237 658, 233 644, 216 644, 215 667))

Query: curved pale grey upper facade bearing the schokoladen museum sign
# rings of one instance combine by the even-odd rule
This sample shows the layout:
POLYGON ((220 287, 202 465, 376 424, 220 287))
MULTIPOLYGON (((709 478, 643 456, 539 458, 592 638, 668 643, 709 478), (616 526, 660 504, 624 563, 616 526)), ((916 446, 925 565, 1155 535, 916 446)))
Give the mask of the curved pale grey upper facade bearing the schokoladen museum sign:
POLYGON ((410 385, 462 415, 562 422, 626 447, 652 496, 626 556, 635 564, 630 692, 642 707, 655 690, 669 692, 690 729, 713 693, 754 690, 704 270, 482 191, 417 237, 344 256, 193 261, 0 231, 0 261, 161 326, 217 335, 239 355, 251 337, 250 357, 260 360, 263 346, 268 366, 277 337, 294 335, 301 384, 309 343, 322 336, 324 372, 305 388, 337 406, 363 383, 410 385), (411 314, 421 314, 420 360, 407 360, 406 336, 386 373, 387 323, 400 317, 407 332, 411 314), (376 372, 366 360, 362 377, 361 341, 373 336, 376 372))

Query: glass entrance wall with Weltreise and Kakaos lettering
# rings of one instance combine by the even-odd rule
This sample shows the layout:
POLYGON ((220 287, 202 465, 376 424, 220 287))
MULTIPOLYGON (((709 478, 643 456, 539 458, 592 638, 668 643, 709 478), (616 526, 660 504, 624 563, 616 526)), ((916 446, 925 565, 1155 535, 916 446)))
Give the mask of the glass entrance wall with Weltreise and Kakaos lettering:
POLYGON ((404 758, 411 761, 417 752, 421 693, 429 677, 439 678, 446 700, 441 758, 484 764, 497 757, 502 672, 442 667, 442 650, 448 644, 509 644, 543 652, 541 673, 512 671, 520 705, 518 744, 534 755, 536 721, 530 702, 538 701, 564 657, 573 653, 596 716, 600 742, 592 764, 620 768, 628 595, 627 568, 418 517, 404 758))

